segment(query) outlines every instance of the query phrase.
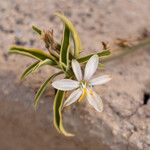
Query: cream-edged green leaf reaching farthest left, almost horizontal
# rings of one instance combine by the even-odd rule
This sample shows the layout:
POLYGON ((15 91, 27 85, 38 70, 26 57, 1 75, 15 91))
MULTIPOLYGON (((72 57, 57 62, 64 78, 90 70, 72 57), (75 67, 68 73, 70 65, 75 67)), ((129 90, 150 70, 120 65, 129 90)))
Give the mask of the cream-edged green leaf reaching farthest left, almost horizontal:
MULTIPOLYGON (((52 57, 45 53, 43 50, 35 49, 35 48, 27 48, 22 46, 11 46, 9 49, 10 53, 17 53, 21 55, 26 55, 32 58, 35 58, 37 60, 45 60, 45 59, 51 59, 52 57)), ((55 64, 55 62, 54 62, 55 64)))

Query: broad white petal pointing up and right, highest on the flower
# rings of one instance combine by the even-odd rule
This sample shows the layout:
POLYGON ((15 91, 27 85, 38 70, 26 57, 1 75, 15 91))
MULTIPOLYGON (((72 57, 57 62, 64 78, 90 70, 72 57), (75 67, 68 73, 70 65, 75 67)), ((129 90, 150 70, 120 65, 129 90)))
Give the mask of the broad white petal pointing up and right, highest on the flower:
POLYGON ((93 55, 85 66, 84 79, 89 80, 95 73, 99 63, 98 55, 93 55))

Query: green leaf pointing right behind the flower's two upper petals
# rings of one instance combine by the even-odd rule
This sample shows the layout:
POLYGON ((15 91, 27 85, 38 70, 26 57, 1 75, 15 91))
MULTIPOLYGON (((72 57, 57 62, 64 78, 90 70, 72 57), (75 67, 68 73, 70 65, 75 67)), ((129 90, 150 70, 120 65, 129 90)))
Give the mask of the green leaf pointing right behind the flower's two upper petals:
MULTIPOLYGON (((99 57, 108 56, 108 55, 110 55, 110 54, 111 54, 111 53, 110 53, 109 50, 104 50, 104 51, 102 51, 102 52, 97 53, 97 55, 98 55, 99 57)), ((85 56, 85 57, 78 58, 77 61, 78 61, 79 63, 86 63, 86 62, 90 59, 90 57, 91 57, 92 55, 95 55, 95 54, 90 54, 90 55, 87 55, 87 56, 85 56)))

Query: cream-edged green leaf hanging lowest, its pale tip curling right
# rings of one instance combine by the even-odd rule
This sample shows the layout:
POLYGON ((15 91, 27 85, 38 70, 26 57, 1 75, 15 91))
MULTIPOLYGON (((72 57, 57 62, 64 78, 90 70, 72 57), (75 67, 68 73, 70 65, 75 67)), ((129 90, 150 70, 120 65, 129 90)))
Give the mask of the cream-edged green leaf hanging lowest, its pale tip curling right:
POLYGON ((59 133, 65 135, 65 136, 74 136, 71 133, 68 133, 65 131, 63 124, 62 124, 62 103, 64 99, 65 92, 57 90, 55 99, 54 99, 54 105, 53 105, 53 110, 54 110, 54 126, 58 130, 59 133))

